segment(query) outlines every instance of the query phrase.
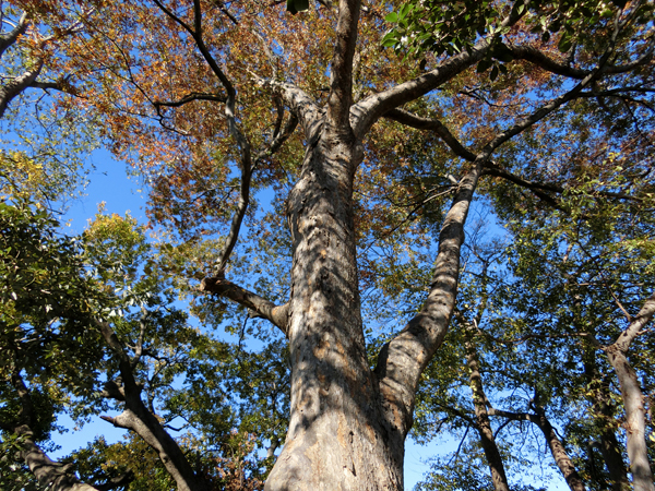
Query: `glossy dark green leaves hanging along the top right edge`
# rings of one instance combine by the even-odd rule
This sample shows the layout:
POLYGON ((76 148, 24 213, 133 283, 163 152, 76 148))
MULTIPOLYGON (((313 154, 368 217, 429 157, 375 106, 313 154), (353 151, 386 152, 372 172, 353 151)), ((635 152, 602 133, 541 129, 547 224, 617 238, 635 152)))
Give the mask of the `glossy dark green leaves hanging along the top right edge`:
MULTIPOLYGON (((611 3, 602 0, 410 1, 386 15, 385 21, 393 24, 393 28, 385 34, 382 46, 419 59, 428 52, 440 57, 472 51, 476 43, 486 37, 490 49, 478 62, 477 72, 491 69, 489 76, 495 81, 499 73, 508 73, 507 63, 513 61, 505 43, 511 41, 508 38, 511 32, 516 34, 516 27, 511 26, 516 20, 522 19, 519 31, 524 36, 533 36, 544 44, 553 37, 562 53, 588 43, 596 43, 595 49, 605 49, 606 46, 597 45, 600 36, 596 34, 610 29, 626 4, 623 0, 611 3)), ((636 7, 630 5, 629 15, 635 25, 645 25, 653 16, 653 9, 652 2, 638 2, 636 7)))

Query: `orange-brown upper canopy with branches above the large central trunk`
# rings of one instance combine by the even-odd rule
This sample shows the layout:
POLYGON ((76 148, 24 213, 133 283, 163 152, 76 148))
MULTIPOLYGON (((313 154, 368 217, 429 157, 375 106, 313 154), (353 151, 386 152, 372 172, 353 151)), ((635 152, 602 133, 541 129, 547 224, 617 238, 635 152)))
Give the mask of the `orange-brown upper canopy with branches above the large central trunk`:
MULTIPOLYGON (((45 19, 80 10, 47 5, 45 19)), ((397 142, 407 127, 436 131, 443 175, 458 176, 458 157, 473 161, 490 145, 495 176, 552 184, 544 196, 575 173, 561 172, 572 169, 567 155, 653 151, 650 2, 408 5, 394 16, 345 0, 298 15, 263 0, 98 3, 62 46, 80 96, 70 104, 102 118, 114 152, 147 176, 153 220, 187 238, 229 237, 221 267, 241 224, 255 219, 251 195, 272 188, 286 197, 324 121, 366 145, 364 208, 385 200, 365 183, 372 169, 404 185, 398 159, 409 155, 397 155, 397 142)), ((369 239, 378 227, 358 226, 369 239)))

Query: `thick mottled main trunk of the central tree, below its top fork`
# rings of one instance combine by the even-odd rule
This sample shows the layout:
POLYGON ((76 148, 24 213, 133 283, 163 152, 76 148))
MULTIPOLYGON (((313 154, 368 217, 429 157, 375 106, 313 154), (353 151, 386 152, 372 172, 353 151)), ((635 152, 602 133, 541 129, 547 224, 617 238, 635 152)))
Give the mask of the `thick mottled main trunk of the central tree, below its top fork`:
POLYGON ((361 325, 352 204, 361 157, 350 134, 322 131, 287 203, 290 420, 266 490, 403 487, 405 434, 385 421, 361 325))

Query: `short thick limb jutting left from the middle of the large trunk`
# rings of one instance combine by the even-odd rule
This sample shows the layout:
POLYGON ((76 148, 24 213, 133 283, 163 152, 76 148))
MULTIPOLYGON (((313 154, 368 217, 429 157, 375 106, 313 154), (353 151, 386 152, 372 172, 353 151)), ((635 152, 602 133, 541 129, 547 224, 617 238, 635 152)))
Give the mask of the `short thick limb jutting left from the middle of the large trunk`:
POLYGON ((225 278, 205 278, 200 285, 201 291, 219 295, 243 306, 259 316, 271 321, 287 336, 288 303, 276 306, 275 303, 260 297, 252 291, 241 288, 225 278))

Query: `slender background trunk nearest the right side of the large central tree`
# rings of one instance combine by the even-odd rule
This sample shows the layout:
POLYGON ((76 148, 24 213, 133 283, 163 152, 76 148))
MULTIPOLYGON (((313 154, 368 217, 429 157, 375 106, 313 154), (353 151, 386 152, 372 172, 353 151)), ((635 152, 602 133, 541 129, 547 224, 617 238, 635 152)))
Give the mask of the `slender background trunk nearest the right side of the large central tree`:
POLYGON ((496 438, 493 436, 493 430, 491 429, 491 422, 489 420, 489 412, 487 410, 488 399, 483 385, 477 351, 471 340, 466 342, 466 362, 468 363, 468 381, 471 390, 473 391, 473 404, 475 406, 475 417, 477 420, 476 429, 480 435, 483 450, 485 451, 487 464, 491 471, 493 489, 496 489, 496 491, 510 491, 502 457, 498 451, 498 445, 496 444, 496 438))

